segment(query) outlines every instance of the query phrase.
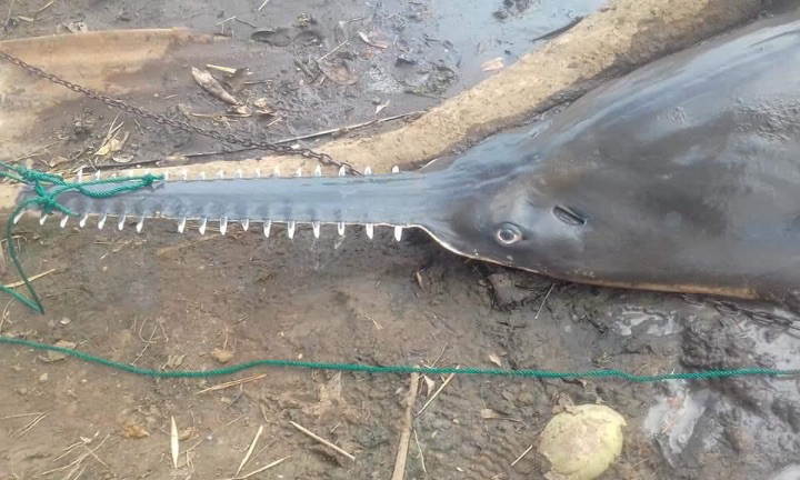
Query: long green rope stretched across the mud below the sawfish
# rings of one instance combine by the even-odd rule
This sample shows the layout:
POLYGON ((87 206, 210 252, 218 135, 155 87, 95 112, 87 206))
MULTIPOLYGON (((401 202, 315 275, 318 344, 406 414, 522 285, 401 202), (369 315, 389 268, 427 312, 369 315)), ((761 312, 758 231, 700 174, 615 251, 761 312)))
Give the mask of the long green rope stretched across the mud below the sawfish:
POLYGON ((764 369, 764 368, 744 368, 736 370, 709 370, 701 372, 684 372, 684 373, 663 373, 654 376, 636 376, 622 370, 590 370, 586 372, 559 372, 551 370, 502 370, 502 369, 481 369, 481 368, 451 368, 451 367, 407 367, 407 366, 369 366, 358 363, 330 363, 330 362, 311 362, 311 361, 298 361, 298 360, 251 360, 234 366, 212 369, 212 370, 173 370, 162 371, 152 370, 140 367, 134 367, 129 363, 122 363, 101 357, 97 357, 90 353, 82 352, 80 350, 72 350, 63 347, 56 347, 47 343, 39 343, 31 340, 14 339, 10 337, 0 336, 0 343, 30 347, 37 350, 49 350, 59 353, 63 353, 77 359, 88 361, 91 363, 100 364, 103 367, 110 367, 116 370, 134 373, 151 378, 209 378, 209 377, 222 377, 232 373, 238 373, 244 370, 250 370, 257 367, 282 367, 282 368, 298 368, 298 369, 310 369, 310 370, 334 370, 334 371, 347 371, 347 372, 362 372, 362 373, 427 373, 427 374, 472 374, 472 376, 496 376, 496 377, 518 377, 518 378, 546 378, 546 379, 603 379, 603 378, 618 378, 636 383, 648 383, 659 382, 664 380, 703 380, 703 379, 721 379, 728 377, 746 377, 746 376, 799 376, 800 369, 797 370, 778 370, 778 369, 764 369))

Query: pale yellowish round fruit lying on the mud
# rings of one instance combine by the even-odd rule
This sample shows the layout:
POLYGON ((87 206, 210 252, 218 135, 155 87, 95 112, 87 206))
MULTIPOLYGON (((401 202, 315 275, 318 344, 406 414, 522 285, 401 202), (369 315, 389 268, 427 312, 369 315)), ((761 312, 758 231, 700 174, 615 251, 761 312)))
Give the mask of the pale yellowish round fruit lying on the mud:
POLYGON ((539 452, 550 461, 551 480, 593 480, 622 453, 626 419, 599 404, 570 407, 540 436, 539 452))

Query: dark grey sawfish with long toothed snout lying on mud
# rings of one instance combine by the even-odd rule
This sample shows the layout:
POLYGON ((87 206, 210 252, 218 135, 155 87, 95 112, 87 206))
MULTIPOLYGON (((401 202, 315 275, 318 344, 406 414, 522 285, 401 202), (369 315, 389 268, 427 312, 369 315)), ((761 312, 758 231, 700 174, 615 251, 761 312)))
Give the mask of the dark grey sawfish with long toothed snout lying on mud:
POLYGON ((290 236, 300 223, 420 228, 459 254, 562 280, 782 301, 800 288, 800 16, 657 60, 451 161, 341 173, 173 177, 59 200, 139 229, 156 217, 181 231, 187 219, 223 232, 281 222, 290 236))

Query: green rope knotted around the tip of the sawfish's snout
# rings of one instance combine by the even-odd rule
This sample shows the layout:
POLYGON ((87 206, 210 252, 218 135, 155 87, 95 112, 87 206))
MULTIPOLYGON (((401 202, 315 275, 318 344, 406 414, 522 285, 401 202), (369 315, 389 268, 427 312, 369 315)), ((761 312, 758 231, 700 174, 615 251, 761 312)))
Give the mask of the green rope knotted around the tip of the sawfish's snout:
POLYGON ((146 174, 141 177, 131 177, 131 178, 109 178, 109 179, 102 179, 102 180, 91 180, 86 182, 68 182, 62 177, 41 172, 37 170, 30 170, 27 169, 23 166, 12 166, 6 162, 0 162, 0 179, 7 178, 9 180, 13 180, 19 183, 27 183, 32 184, 34 191, 37 192, 37 197, 31 197, 28 200, 24 200, 20 202, 17 208, 13 210, 11 216, 9 217, 8 222, 6 222, 6 242, 8 243, 8 252, 9 257, 11 258, 11 261, 13 261, 14 267, 17 268, 17 271, 19 272, 20 277, 22 278, 22 283, 28 289, 28 292, 30 293, 31 298, 27 298, 23 294, 14 291, 12 288, 0 286, 0 290, 11 294, 13 298, 16 298, 18 301, 23 303, 24 306, 38 311, 39 313, 44 313, 44 306, 41 302, 41 299, 37 294, 36 290, 33 289, 33 286, 31 284, 30 280, 28 279, 28 276, 24 272, 24 269, 22 268, 22 264, 19 261, 18 254, 17 254, 17 248, 13 243, 13 219, 16 219, 24 209, 32 204, 38 204, 39 208, 42 210, 46 214, 52 214, 53 211, 58 210, 59 212, 70 216, 70 217, 77 217, 78 213, 73 212, 72 210, 68 209, 67 207, 59 203, 56 198, 60 196, 61 193, 66 191, 78 191, 87 197, 94 198, 94 199, 103 199, 103 198, 110 198, 113 196, 117 196, 119 193, 124 193, 129 191, 140 190, 142 188, 147 188, 152 186, 156 181, 160 181, 163 179, 162 176, 152 176, 152 174, 146 174), (94 191, 89 189, 88 187, 93 187, 98 184, 108 184, 108 183, 120 183, 119 187, 104 190, 104 191, 94 191), (46 188, 46 184, 52 184, 57 188, 52 189, 51 191, 48 191, 46 188))

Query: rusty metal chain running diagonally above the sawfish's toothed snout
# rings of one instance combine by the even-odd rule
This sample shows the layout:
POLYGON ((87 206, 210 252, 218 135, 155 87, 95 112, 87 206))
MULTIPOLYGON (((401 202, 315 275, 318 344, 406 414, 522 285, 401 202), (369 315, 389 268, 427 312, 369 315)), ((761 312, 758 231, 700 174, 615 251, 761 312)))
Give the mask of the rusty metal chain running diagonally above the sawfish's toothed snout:
POLYGON ((18 67, 23 68, 24 70, 29 71, 30 73, 33 73, 37 77, 41 77, 53 83, 67 87, 68 89, 72 90, 72 91, 82 93, 92 99, 100 100, 101 102, 103 102, 108 106, 116 107, 120 110, 127 111, 129 113, 133 113, 141 118, 153 120, 159 124, 168 124, 170 127, 174 127, 177 129, 183 130, 189 133, 198 133, 203 137, 209 137, 209 138, 212 138, 216 140, 221 140, 227 143, 240 144, 240 146, 243 146, 247 148, 251 148, 253 150, 268 150, 268 151, 272 151, 272 152, 279 153, 279 154, 300 154, 306 158, 313 158, 323 164, 344 167, 348 171, 350 171, 350 173, 353 173, 357 176, 361 174, 358 170, 356 170, 349 163, 336 161, 327 153, 314 152, 313 150, 310 150, 310 149, 293 149, 290 146, 279 146, 279 144, 270 143, 270 142, 244 139, 244 138, 234 136, 232 133, 221 133, 217 130, 203 129, 201 127, 196 127, 196 126, 189 124, 184 121, 172 120, 164 116, 151 113, 142 108, 129 106, 128 103, 126 103, 124 101, 122 101, 120 99, 107 97, 107 96, 98 93, 93 90, 90 90, 88 88, 77 86, 77 84, 74 84, 70 81, 63 80, 52 73, 47 73, 47 72, 42 71, 41 69, 33 67, 31 64, 28 64, 24 61, 4 52, 4 51, 0 51, 0 58, 8 61, 9 63, 13 63, 18 67))

